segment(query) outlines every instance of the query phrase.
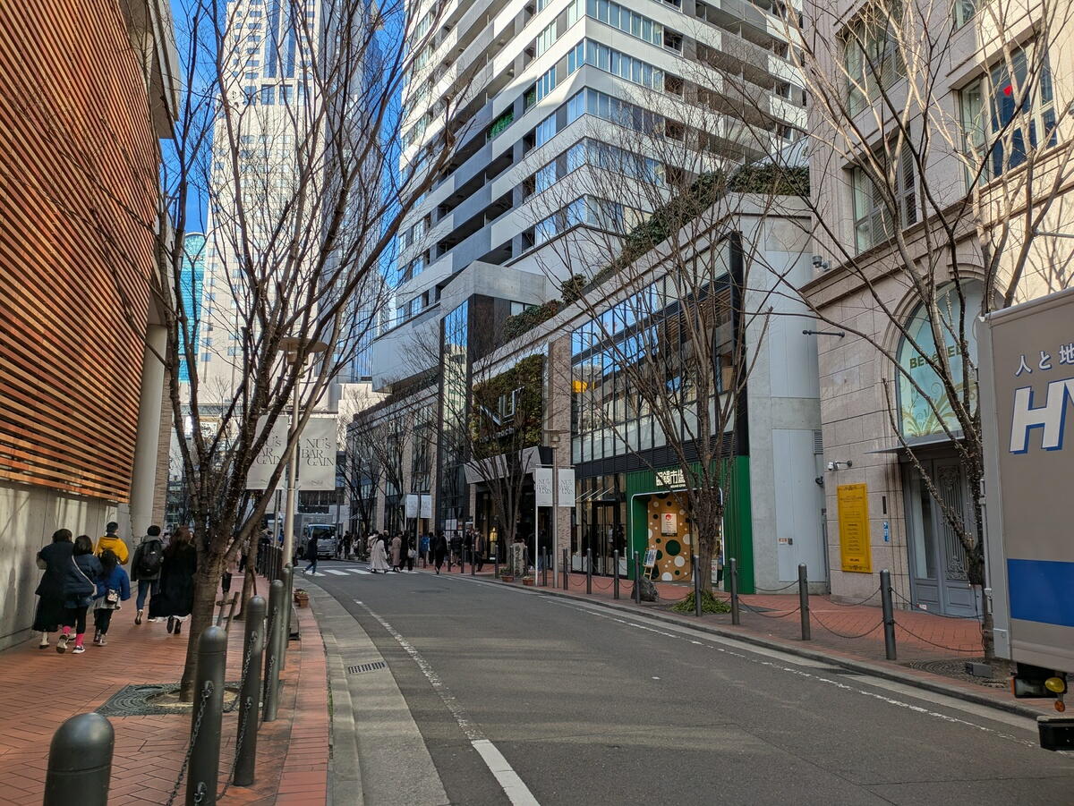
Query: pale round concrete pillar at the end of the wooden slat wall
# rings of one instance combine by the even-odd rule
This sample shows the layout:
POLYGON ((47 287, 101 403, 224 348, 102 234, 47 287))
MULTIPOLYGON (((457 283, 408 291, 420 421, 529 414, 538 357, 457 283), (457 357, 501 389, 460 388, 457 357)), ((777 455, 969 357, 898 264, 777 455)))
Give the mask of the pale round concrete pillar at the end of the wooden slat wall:
POLYGON ((139 397, 137 438, 134 442, 134 470, 131 475, 130 539, 132 541, 136 541, 139 537, 145 534, 145 530, 153 523, 154 493, 157 488, 157 463, 160 458, 160 411, 164 397, 164 365, 158 355, 163 355, 166 349, 168 334, 164 327, 156 324, 148 325, 142 361, 142 391, 139 397))

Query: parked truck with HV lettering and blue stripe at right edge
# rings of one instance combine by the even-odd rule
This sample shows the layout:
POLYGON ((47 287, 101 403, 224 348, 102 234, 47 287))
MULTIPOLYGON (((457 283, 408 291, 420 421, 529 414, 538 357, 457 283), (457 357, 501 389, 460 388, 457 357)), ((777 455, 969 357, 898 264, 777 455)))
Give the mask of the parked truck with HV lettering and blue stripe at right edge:
MULTIPOLYGON (((1014 661, 1015 697, 1055 698, 1061 715, 1074 679, 1074 289, 990 313, 977 346, 996 654, 1014 661)), ((1037 722, 1042 747, 1074 749, 1074 717, 1037 722)))

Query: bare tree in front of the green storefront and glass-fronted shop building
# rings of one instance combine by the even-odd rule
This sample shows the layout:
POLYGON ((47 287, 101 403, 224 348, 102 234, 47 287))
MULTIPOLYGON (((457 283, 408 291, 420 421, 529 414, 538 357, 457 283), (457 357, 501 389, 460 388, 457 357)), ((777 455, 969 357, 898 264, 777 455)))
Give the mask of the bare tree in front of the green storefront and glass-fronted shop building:
POLYGON ((638 89, 641 105, 589 91, 582 138, 522 181, 538 260, 563 289, 553 307, 575 304, 587 320, 571 350, 577 430, 598 435, 608 455, 682 469, 669 493, 708 569, 737 412, 782 281, 754 232, 808 181, 801 167, 744 165, 763 151, 714 134, 724 130, 694 89, 672 76, 653 84, 638 89))

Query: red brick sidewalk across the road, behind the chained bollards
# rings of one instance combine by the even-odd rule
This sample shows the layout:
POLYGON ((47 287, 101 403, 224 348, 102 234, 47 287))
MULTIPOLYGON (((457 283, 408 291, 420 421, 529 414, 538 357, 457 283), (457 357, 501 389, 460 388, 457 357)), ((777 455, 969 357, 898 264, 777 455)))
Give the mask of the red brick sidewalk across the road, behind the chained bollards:
MULTIPOLYGON (((432 568, 420 570, 432 572, 432 568)), ((470 567, 466 566, 462 573, 469 575, 470 567)), ((458 566, 452 569, 452 575, 460 575, 458 566)), ((492 566, 484 566, 481 573, 476 576, 493 581, 492 566)), ((548 580, 551 586, 551 572, 548 574, 548 580)), ((499 584, 520 586, 522 583, 516 578, 513 583, 499 584)), ((867 663, 875 670, 886 670, 892 675, 898 675, 899 679, 905 682, 918 680, 932 687, 983 698, 1002 707, 1017 705, 1034 713, 1055 714, 1050 700, 1015 700, 1005 686, 983 686, 969 678, 933 674, 928 671, 930 665, 960 666, 966 660, 981 658, 981 625, 976 619, 949 618, 934 613, 900 609, 899 605, 905 603, 897 601, 895 621, 898 659, 888 661, 884 650, 879 591, 869 603, 862 604, 841 604, 828 596, 811 596, 811 641, 807 642, 801 640, 801 617, 798 610, 798 592, 795 588, 788 589, 785 595, 740 597, 741 624, 734 626, 730 614, 706 613, 698 621, 693 613, 687 615, 671 611, 671 605, 692 592, 693 588, 690 585, 663 582, 657 582, 655 585, 661 601, 642 602, 637 605, 630 599, 634 583, 621 580, 620 600, 614 604, 628 611, 651 613, 662 619, 671 619, 683 625, 717 629, 727 635, 760 639, 788 649, 823 655, 837 662, 867 663)), ((550 587, 550 590, 554 590, 557 595, 578 597, 583 601, 612 603, 611 577, 594 576, 593 592, 586 593, 585 588, 585 574, 574 572, 570 574, 566 590, 563 588, 562 577, 560 587, 557 589, 550 587)), ((720 591, 716 596, 722 599, 730 598, 728 593, 720 591)))

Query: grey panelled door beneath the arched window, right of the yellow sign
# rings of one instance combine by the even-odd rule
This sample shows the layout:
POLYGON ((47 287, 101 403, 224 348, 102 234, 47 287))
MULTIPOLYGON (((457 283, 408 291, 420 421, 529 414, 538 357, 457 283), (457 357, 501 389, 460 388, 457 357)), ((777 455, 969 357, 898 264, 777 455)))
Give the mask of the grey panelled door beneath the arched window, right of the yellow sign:
POLYGON ((937 488, 939 501, 913 466, 904 468, 908 528, 914 604, 957 616, 978 614, 976 592, 967 573, 966 548, 945 511, 972 523, 969 485, 957 459, 921 463, 937 488))

